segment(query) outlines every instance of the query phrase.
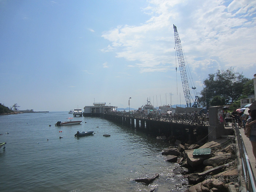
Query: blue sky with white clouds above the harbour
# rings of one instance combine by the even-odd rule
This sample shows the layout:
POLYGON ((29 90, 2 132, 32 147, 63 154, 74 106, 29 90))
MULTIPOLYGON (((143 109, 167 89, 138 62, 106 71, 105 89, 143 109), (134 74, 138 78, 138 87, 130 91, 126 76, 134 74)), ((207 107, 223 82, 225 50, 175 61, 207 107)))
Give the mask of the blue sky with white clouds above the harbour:
POLYGON ((147 98, 170 104, 171 93, 185 104, 173 24, 192 97, 218 69, 253 78, 255 0, 0 0, 0 102, 68 111, 94 101, 126 108, 132 97, 138 108, 147 98))

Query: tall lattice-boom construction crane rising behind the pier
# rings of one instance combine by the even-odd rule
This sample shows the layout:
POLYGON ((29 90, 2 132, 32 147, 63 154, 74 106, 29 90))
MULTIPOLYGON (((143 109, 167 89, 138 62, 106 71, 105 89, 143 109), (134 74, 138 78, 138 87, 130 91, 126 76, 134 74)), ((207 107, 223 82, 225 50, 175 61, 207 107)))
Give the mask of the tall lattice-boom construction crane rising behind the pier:
MULTIPOLYGON (((199 100, 198 96, 196 96, 193 106, 191 105, 191 100, 190 100, 191 94, 189 91, 188 77, 187 77, 183 52, 182 52, 182 48, 181 48, 180 37, 179 37, 178 31, 177 31, 177 27, 174 24, 173 24, 173 29, 174 29, 174 41, 175 41, 175 46, 176 46, 178 63, 180 66, 180 75, 181 75, 182 87, 183 87, 186 104, 187 104, 187 107, 198 108, 198 100, 199 100)), ((177 71, 177 67, 176 67, 176 71, 177 71)), ((192 86, 192 89, 194 90, 194 89, 196 89, 196 87, 192 86)))

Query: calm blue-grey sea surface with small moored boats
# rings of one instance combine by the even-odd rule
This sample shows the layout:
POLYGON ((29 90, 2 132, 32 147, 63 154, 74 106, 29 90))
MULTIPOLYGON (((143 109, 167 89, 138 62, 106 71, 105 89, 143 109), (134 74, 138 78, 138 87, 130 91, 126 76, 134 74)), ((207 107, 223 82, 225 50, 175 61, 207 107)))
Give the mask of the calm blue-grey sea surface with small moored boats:
POLYGON ((0 116, 0 142, 7 143, 0 149, 1 192, 185 191, 187 180, 172 172, 178 164, 161 155, 166 142, 98 117, 74 117, 82 123, 54 126, 67 117, 72 114, 0 116), (77 131, 95 134, 75 138, 77 131), (133 181, 154 173, 159 178, 151 185, 133 181))

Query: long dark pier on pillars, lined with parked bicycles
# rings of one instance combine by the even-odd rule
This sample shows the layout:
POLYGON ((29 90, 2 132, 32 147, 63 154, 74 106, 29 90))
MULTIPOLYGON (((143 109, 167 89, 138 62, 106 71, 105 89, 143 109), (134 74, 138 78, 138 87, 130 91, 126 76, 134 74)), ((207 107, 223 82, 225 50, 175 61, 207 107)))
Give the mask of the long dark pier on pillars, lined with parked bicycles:
POLYGON ((128 128, 147 131, 156 136, 171 136, 182 142, 193 143, 198 139, 206 138, 208 135, 206 122, 195 121, 195 119, 194 123, 189 123, 186 118, 176 118, 175 116, 154 117, 144 114, 129 115, 122 112, 105 113, 101 117, 128 128))

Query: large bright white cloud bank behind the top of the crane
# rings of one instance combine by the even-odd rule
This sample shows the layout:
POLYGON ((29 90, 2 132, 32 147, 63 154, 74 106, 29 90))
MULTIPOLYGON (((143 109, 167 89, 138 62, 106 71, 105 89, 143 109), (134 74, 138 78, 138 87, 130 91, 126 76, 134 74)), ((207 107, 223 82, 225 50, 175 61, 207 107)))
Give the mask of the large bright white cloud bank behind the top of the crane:
POLYGON ((256 65, 256 1, 163 1, 152 0, 143 11, 151 18, 139 26, 117 26, 103 33, 112 42, 103 50, 133 61, 128 67, 140 72, 168 71, 174 67, 174 33, 176 23, 191 68, 206 75, 219 68, 256 65), (195 60, 202 57, 202 60, 195 60), (211 59, 218 58, 217 60, 211 59), (211 69, 210 72, 209 69, 211 69))

